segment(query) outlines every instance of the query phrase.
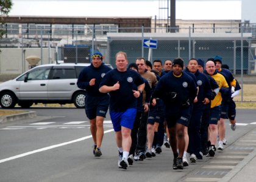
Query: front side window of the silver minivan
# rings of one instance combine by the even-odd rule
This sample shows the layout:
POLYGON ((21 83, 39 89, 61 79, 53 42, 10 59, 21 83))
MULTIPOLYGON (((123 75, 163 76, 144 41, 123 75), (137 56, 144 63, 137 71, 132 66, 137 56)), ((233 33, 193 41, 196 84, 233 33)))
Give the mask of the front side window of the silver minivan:
POLYGON ((22 75, 17 80, 23 81, 25 76, 27 76, 27 80, 48 79, 50 70, 51 70, 51 67, 37 67, 31 70, 30 72, 27 72, 26 74, 22 75))

